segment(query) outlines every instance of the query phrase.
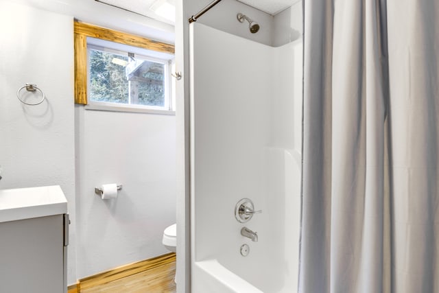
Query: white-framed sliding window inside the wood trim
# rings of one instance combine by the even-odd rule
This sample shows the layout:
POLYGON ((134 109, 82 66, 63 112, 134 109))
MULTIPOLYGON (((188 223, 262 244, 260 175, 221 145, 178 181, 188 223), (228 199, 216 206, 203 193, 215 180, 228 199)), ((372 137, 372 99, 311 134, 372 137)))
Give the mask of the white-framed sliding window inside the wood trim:
POLYGON ((89 104, 125 104, 130 108, 137 105, 137 109, 172 110, 172 90, 169 86, 171 57, 87 38, 89 104), (162 58, 158 58, 160 56, 162 58))

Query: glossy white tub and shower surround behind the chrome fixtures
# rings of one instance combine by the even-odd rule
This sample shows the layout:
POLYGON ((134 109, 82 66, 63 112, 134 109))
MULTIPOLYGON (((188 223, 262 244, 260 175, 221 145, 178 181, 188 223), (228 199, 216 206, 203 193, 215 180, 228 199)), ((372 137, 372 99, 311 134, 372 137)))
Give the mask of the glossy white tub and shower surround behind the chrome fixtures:
POLYGON ((193 292, 216 292, 209 286, 224 278, 206 279, 204 265, 198 264, 211 260, 263 292, 293 292, 300 226, 301 40, 274 48, 199 23, 191 30, 193 292), (234 209, 241 198, 250 198, 263 213, 246 224, 237 222, 234 209), (259 242, 241 236, 243 226, 257 231, 259 242), (250 246, 248 257, 239 254, 244 243, 250 246))

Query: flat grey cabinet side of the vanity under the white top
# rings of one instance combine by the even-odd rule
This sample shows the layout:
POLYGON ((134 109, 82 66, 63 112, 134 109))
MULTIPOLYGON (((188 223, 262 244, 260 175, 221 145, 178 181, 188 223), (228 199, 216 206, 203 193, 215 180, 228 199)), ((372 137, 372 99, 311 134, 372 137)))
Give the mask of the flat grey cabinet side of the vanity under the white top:
POLYGON ((0 292, 64 292, 63 215, 0 223, 0 292))

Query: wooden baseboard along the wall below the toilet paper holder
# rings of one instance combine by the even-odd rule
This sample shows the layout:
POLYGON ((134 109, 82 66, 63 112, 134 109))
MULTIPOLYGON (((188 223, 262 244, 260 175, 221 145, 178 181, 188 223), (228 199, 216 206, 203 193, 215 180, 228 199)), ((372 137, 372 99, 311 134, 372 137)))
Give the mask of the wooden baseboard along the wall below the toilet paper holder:
POLYGON ((101 272, 99 274, 94 274, 93 276, 80 279, 77 285, 69 286, 69 293, 80 293, 82 289, 95 287, 97 285, 102 285, 131 276, 132 274, 158 268, 159 266, 163 266, 174 261, 176 261, 176 254, 168 253, 152 259, 146 259, 144 261, 137 261, 125 266, 120 266, 119 268, 115 268, 113 270, 108 270, 106 272, 101 272))

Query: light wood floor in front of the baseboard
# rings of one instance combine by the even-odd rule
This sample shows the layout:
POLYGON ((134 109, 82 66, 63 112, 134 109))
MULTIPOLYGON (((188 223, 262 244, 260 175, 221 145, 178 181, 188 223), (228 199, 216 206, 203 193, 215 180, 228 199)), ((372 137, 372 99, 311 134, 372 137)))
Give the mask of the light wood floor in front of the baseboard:
POLYGON ((115 281, 81 288, 80 293, 176 293, 175 273, 176 262, 172 261, 115 281))

